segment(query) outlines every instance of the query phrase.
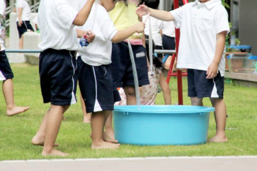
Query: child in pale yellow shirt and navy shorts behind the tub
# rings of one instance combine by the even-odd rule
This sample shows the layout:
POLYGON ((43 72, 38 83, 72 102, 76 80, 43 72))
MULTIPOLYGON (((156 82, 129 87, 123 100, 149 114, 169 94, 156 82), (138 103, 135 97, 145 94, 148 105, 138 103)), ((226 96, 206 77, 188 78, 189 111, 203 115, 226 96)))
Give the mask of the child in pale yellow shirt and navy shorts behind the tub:
MULTIPOLYGON (((118 2, 115 8, 109 12, 117 30, 127 29, 140 22, 139 16, 136 14, 136 8, 140 3, 142 2, 138 0, 129 0, 126 6, 124 3, 118 2)), ((142 37, 143 34, 134 34, 129 38, 134 52, 140 87, 149 84, 146 49, 143 46, 142 37)), ((126 41, 114 43, 111 56, 110 67, 115 86, 124 89, 127 105, 136 105, 132 63, 126 41)))

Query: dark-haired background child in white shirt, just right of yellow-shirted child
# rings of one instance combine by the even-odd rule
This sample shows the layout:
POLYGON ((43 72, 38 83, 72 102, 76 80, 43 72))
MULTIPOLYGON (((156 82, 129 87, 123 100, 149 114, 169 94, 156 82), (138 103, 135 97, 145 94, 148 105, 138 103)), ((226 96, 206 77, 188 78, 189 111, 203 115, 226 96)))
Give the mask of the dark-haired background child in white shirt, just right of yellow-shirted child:
MULTIPOLYGON (((145 5, 152 9, 158 9, 160 4, 160 0, 146 0, 145 5)), ((143 21, 146 22, 145 35, 149 36, 149 21, 146 16, 143 16, 143 21)), ((158 20, 156 18, 150 17, 151 20, 151 30, 152 30, 152 38, 155 44, 155 49, 163 49, 162 48, 162 27, 163 21, 158 20)), ((162 57, 162 54, 158 54, 158 57, 162 57)))

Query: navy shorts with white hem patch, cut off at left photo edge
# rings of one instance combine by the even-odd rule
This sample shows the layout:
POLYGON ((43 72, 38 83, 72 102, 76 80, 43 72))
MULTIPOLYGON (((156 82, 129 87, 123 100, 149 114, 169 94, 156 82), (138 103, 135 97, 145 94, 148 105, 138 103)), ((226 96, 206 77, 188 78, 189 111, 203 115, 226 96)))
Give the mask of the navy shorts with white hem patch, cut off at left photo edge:
POLYGON ((5 50, 0 51, 0 80, 11 79, 14 77, 5 50))

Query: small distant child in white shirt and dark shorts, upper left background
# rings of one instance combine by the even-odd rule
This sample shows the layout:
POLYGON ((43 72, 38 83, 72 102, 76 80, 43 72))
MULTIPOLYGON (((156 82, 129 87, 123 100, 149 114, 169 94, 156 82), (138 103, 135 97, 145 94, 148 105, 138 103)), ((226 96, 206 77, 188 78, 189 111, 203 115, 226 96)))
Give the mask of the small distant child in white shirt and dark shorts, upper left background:
POLYGON ((30 24, 31 10, 25 0, 16 1, 17 10, 17 29, 19 32, 19 49, 23 49, 23 34, 27 31, 34 31, 30 24))

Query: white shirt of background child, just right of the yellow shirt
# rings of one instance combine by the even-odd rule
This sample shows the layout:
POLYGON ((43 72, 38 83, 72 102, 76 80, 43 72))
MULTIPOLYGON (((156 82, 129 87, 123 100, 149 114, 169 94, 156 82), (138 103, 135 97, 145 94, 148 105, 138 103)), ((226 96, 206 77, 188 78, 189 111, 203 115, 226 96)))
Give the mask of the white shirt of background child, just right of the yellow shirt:
MULTIPOLYGON (((145 22, 147 16, 143 16, 143 22, 145 22)), ((163 26, 163 21, 158 20, 154 17, 149 17, 148 20, 151 20, 151 28, 152 28, 152 37, 155 45, 162 46, 162 37, 160 34, 160 30, 163 26)), ((146 21, 145 34, 149 35, 149 21, 146 21)))

